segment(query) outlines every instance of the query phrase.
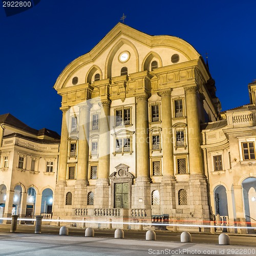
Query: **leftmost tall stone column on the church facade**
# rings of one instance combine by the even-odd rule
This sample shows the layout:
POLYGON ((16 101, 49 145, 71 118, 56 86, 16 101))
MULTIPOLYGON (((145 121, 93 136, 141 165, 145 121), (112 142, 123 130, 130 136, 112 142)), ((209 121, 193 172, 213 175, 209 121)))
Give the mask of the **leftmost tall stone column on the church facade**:
POLYGON ((65 187, 67 186, 67 161, 68 161, 68 150, 69 150, 69 116, 67 111, 69 107, 60 108, 62 111, 62 123, 61 123, 61 139, 59 149, 59 166, 57 183, 55 186, 55 202, 53 207, 54 218, 59 217, 65 212, 65 187))

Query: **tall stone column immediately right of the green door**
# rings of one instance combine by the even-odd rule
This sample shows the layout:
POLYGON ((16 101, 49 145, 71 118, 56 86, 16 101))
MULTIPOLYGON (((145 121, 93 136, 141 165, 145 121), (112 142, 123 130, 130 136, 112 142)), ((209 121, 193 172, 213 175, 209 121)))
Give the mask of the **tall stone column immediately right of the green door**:
POLYGON ((136 208, 151 208, 147 98, 147 94, 136 97, 136 182, 133 189, 133 206, 136 208))

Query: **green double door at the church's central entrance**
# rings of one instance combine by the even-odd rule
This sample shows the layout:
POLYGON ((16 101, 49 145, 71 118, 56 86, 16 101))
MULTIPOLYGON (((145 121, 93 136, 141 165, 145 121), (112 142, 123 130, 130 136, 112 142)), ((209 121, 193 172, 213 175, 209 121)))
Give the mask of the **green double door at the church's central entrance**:
POLYGON ((115 208, 129 208, 129 183, 115 184, 115 208))

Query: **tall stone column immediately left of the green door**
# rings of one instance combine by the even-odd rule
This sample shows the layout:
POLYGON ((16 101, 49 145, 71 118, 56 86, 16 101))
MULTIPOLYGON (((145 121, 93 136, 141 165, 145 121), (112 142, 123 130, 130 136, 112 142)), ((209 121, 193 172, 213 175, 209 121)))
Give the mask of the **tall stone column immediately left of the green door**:
POLYGON ((110 106, 111 101, 101 102, 98 143, 98 179, 95 188, 95 205, 109 207, 109 175, 110 175, 110 106))

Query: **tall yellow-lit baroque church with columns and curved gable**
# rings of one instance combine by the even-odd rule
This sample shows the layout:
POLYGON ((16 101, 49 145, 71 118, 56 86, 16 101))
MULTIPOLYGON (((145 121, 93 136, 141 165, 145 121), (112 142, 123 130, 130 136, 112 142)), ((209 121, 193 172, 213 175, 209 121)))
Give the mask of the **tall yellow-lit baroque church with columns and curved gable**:
POLYGON ((54 88, 63 116, 53 218, 209 224, 200 124, 218 122, 221 104, 191 45, 118 23, 54 88))

